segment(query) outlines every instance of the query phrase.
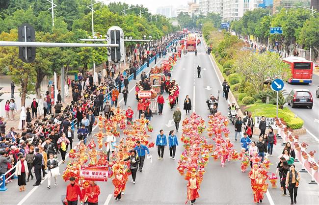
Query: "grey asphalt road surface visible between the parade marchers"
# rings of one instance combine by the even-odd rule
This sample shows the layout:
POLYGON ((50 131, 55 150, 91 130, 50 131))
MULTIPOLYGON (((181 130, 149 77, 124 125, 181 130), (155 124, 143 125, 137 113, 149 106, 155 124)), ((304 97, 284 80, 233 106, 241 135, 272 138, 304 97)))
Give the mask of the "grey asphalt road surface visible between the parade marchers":
MULTIPOLYGON (((188 52, 187 56, 182 57, 176 64, 172 72, 172 77, 176 79, 181 87, 178 106, 183 108, 183 100, 186 95, 189 95, 192 100, 193 111, 207 120, 209 114, 205 103, 207 97, 210 94, 216 94, 217 91, 221 89, 221 86, 220 81, 216 77, 210 57, 205 54, 205 51, 204 46, 200 46, 197 57, 195 57, 194 53, 188 52), (202 67, 202 78, 197 78, 197 65, 202 67), (207 86, 212 87, 212 90, 205 89, 207 86)), ((134 100, 133 82, 129 85, 129 90, 132 90, 132 92, 129 94, 128 105, 132 106, 133 110, 136 111, 137 103, 134 100)), ((120 103, 122 104, 122 108, 126 108, 126 106, 123 105, 123 100, 120 101, 120 103)), ((227 103, 225 99, 220 100, 218 109, 223 114, 227 113, 227 103)), ((160 129, 164 129, 166 135, 169 130, 173 129, 173 126, 170 128, 165 126, 165 124, 171 120, 172 114, 173 111, 171 111, 167 103, 165 103, 163 115, 154 115, 151 120, 154 128, 153 133, 151 133, 151 140, 155 141, 160 129)), ((185 119, 185 117, 187 117, 185 112, 182 112, 182 119, 185 119)), ((134 115, 134 118, 136 118, 136 115, 134 115)), ((231 126, 230 130, 230 138, 235 144, 235 148, 239 150, 239 142, 235 142, 234 140, 234 128, 231 126)), ((95 129, 93 133, 96 132, 97 130, 95 129)), ((177 136, 180 137, 180 134, 181 132, 178 132, 177 136)), ((257 137, 253 137, 253 139, 257 140, 257 137)), ((209 140, 209 142, 212 142, 212 140, 209 140)), ((282 152, 282 148, 280 145, 277 145, 273 153, 274 157, 270 158, 274 164, 271 166, 272 172, 275 171, 276 156, 282 152)), ((178 158, 183 150, 182 145, 177 147, 176 158, 178 158)), ((130 180, 127 182, 126 192, 122 197, 121 204, 185 204, 186 180, 180 176, 176 169, 178 160, 169 158, 168 148, 165 148, 164 160, 162 161, 157 160, 157 150, 155 148, 150 151, 154 156, 153 163, 150 163, 149 160, 145 160, 143 172, 137 173, 136 184, 133 185, 130 180)), ((61 164, 60 169, 64 170, 65 166, 65 164, 61 164)), ((297 164, 297 166, 298 169, 300 169, 300 165, 297 164)), ((206 173, 204 174, 204 180, 201 184, 201 190, 199 192, 200 198, 197 200, 197 204, 253 204, 250 179, 248 179, 247 176, 247 173, 240 172, 239 161, 232 161, 227 163, 224 168, 221 168, 218 161, 213 161, 213 159, 210 158, 209 164, 206 167, 206 173)), ((308 174, 302 174, 301 178, 297 198, 299 204, 319 204, 318 186, 307 184, 307 181, 310 180, 308 174)), ((23 193, 19 193, 16 184, 9 184, 8 190, 5 193, 1 193, 0 204, 55 205, 61 203, 60 198, 61 195, 65 194, 66 182, 59 178, 58 186, 48 190, 46 188, 47 181, 44 181, 44 184, 41 186, 34 188, 31 186, 34 180, 35 179, 27 184, 27 191, 23 193), (5 200, 2 200, 2 198, 5 198, 5 200)), ((98 182, 98 185, 101 188, 101 195, 99 197, 100 205, 119 204, 113 200, 112 194, 114 189, 111 181, 98 182)), ((290 199, 288 197, 281 197, 280 194, 280 189, 270 188, 269 194, 267 195, 268 197, 265 195, 263 204, 289 204, 290 199)))

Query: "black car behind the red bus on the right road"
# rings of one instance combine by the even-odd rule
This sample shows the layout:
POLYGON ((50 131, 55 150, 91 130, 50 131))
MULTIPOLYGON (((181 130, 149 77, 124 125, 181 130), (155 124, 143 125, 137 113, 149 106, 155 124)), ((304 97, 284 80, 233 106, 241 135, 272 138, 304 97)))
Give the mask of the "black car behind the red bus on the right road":
POLYGON ((292 108, 296 106, 308 106, 312 109, 314 101, 312 99, 311 92, 307 89, 293 89, 288 100, 288 105, 291 105, 292 108))

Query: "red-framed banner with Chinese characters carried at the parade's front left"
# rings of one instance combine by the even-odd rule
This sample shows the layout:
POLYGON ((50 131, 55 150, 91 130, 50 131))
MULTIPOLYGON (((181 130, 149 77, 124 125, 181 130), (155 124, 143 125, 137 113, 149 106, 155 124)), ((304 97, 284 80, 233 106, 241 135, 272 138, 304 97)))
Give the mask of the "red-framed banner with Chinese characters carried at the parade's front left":
POLYGON ((80 171, 80 179, 107 181, 108 167, 105 166, 88 166, 80 171))

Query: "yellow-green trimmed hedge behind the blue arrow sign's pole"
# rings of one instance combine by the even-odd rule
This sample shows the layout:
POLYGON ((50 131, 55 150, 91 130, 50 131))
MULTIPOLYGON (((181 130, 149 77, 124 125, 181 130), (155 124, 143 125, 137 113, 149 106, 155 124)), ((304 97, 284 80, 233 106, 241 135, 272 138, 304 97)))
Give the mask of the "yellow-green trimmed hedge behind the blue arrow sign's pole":
MULTIPOLYGON (((253 116, 276 117, 276 105, 273 104, 255 103, 247 106, 246 109, 251 112, 253 116)), ((302 128, 303 120, 294 116, 295 114, 287 107, 278 109, 278 117, 284 119, 287 123, 287 127, 292 129, 302 128)))

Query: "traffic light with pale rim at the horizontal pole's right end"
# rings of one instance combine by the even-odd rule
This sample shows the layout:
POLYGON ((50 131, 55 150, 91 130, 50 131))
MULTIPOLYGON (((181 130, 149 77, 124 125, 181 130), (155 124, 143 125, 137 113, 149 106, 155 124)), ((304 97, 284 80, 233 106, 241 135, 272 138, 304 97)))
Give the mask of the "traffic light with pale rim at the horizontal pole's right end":
POLYGON ((108 61, 115 63, 124 60, 124 33, 119 26, 111 26, 107 30, 107 37, 109 44, 118 44, 118 47, 110 48, 110 55, 108 55, 108 61))

